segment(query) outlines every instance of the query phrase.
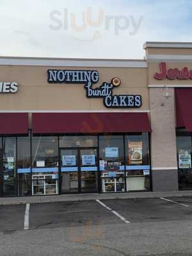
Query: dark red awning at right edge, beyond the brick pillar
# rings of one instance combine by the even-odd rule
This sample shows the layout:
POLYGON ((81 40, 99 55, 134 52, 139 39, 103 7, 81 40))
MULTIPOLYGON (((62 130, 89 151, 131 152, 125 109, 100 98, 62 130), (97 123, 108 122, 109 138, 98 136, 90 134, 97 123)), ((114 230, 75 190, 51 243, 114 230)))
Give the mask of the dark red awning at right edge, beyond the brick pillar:
POLYGON ((192 131, 192 88, 175 89, 177 127, 192 131))

